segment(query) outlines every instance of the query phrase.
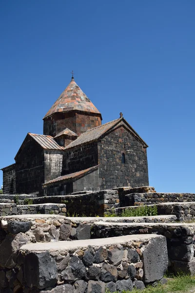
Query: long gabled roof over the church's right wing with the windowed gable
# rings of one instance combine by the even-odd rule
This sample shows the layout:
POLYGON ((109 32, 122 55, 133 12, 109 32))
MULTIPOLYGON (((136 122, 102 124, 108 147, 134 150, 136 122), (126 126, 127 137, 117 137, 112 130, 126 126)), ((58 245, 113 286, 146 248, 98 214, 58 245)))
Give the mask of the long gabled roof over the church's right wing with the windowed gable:
POLYGON ((75 141, 66 146, 65 149, 95 141, 107 131, 120 125, 126 127, 141 144, 143 144, 145 147, 148 147, 148 145, 142 140, 137 132, 127 123, 127 121, 123 117, 121 117, 111 122, 87 130, 86 132, 82 133, 75 141))

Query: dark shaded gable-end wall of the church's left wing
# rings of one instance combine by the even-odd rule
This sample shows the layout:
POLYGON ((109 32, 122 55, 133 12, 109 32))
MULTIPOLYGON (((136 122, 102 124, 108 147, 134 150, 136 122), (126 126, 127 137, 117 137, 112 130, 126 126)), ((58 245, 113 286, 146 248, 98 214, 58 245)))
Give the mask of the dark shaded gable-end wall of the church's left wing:
POLYGON ((16 193, 43 194, 44 151, 28 137, 16 157, 16 193))

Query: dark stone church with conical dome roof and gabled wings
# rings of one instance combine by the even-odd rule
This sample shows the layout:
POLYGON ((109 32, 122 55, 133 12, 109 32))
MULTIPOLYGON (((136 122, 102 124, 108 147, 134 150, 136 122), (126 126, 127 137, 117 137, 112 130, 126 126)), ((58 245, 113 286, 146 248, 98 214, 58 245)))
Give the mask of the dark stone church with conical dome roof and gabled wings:
POLYGON ((64 195, 148 186, 147 144, 122 113, 101 121, 72 77, 44 116, 43 134, 28 133, 16 163, 2 168, 3 193, 64 195))

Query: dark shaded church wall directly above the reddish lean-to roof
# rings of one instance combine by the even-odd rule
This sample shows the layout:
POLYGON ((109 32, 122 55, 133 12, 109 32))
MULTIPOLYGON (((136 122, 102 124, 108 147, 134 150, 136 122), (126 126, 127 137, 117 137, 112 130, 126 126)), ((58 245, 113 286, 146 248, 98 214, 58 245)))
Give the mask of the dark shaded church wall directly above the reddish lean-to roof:
POLYGON ((62 175, 74 173, 98 165, 97 143, 67 149, 64 155, 62 175))

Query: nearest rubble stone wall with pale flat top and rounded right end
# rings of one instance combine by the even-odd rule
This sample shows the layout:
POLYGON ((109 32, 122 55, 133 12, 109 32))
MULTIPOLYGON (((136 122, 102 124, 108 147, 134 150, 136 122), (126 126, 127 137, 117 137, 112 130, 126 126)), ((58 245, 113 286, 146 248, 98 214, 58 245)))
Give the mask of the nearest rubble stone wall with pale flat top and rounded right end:
MULTIPOLYGON (((121 293, 162 279, 168 256, 165 237, 139 235, 27 244, 17 263, 23 281, 14 277, 25 293, 104 293, 106 288, 121 293)), ((13 282, 9 286, 14 288, 13 282)))

